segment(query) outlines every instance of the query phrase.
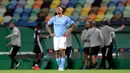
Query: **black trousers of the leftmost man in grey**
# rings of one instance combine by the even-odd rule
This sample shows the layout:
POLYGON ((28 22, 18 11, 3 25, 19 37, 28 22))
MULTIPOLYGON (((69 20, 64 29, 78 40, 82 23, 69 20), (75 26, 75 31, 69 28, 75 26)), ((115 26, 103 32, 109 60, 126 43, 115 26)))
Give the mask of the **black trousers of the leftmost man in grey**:
POLYGON ((19 49, 20 49, 19 46, 13 45, 11 47, 10 55, 9 55, 9 57, 11 59, 11 69, 14 68, 14 63, 16 63, 16 64, 18 63, 18 61, 16 60, 15 56, 16 56, 17 52, 19 51, 19 49))

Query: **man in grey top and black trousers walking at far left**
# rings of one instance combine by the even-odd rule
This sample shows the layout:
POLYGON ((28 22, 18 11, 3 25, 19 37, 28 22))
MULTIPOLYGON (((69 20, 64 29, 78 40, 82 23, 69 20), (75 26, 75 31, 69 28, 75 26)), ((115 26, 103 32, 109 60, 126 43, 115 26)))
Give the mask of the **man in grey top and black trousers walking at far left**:
POLYGON ((11 58, 11 69, 17 69, 21 63, 16 60, 15 56, 21 47, 21 35, 19 29, 15 27, 14 23, 10 23, 9 27, 12 30, 12 34, 9 34, 5 38, 11 38, 11 42, 8 43, 6 47, 12 46, 9 54, 9 57, 11 58), (14 63, 16 63, 15 67, 14 63))

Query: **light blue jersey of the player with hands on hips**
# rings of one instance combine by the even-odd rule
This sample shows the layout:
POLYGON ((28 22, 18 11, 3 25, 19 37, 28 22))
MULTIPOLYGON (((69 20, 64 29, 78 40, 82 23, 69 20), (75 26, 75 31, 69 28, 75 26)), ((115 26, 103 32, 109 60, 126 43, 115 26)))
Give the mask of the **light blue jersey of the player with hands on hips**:
POLYGON ((49 21, 49 25, 54 25, 54 33, 56 37, 61 37, 67 31, 67 25, 72 25, 74 22, 68 17, 63 15, 62 17, 54 16, 49 21))

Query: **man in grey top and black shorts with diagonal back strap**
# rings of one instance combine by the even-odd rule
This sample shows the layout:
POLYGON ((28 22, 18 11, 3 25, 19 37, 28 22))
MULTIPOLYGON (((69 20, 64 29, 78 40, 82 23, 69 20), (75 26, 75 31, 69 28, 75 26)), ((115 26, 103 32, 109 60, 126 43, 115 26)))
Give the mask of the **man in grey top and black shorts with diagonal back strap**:
POLYGON ((96 28, 96 23, 91 23, 92 28, 88 30, 88 33, 86 34, 88 42, 90 42, 90 50, 89 54, 91 56, 91 68, 96 68, 96 58, 98 55, 98 52, 100 50, 100 47, 104 46, 104 38, 101 33, 101 31, 96 28))

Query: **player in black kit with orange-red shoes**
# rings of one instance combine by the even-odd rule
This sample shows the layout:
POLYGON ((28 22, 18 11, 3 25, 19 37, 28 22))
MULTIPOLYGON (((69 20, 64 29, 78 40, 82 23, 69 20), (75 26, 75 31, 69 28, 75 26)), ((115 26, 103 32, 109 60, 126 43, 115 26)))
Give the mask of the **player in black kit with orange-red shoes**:
POLYGON ((39 70, 40 69, 39 63, 40 63, 40 61, 43 57, 43 54, 44 54, 43 48, 41 46, 41 40, 43 38, 47 38, 47 39, 50 38, 50 36, 43 36, 42 35, 41 28, 42 28, 42 24, 39 23, 34 30, 34 43, 35 44, 34 44, 33 52, 35 53, 35 55, 34 55, 34 62, 33 62, 33 68, 32 68, 33 70, 39 70))

